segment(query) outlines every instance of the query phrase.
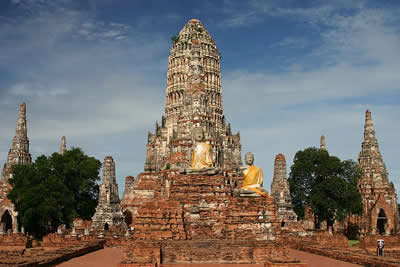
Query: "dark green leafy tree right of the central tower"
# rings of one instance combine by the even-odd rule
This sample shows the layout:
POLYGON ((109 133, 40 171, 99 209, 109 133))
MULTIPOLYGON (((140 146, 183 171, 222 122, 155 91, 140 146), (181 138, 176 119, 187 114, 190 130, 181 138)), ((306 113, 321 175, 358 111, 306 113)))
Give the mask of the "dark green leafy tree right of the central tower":
POLYGON ((362 211, 357 191, 360 171, 354 161, 341 161, 325 150, 307 148, 295 155, 289 176, 294 210, 304 218, 306 206, 312 208, 316 224, 342 221, 349 214, 362 211))

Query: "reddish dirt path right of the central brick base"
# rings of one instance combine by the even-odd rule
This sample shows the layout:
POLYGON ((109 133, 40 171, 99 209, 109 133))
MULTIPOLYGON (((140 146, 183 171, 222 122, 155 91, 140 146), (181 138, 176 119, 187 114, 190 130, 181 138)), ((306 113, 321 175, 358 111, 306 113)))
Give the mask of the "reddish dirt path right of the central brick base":
POLYGON ((356 267, 361 266, 358 264, 353 264, 345 261, 338 261, 332 258, 315 255, 300 250, 289 249, 289 256, 296 258, 301 262, 307 263, 308 267, 356 267))

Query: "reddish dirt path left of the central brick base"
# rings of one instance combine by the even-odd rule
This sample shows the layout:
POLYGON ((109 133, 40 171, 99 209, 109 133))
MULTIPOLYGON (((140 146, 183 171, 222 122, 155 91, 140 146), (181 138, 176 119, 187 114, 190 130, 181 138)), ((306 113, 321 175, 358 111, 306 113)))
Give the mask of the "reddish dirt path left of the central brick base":
POLYGON ((63 262, 58 267, 112 267, 122 260, 122 248, 104 248, 63 262))

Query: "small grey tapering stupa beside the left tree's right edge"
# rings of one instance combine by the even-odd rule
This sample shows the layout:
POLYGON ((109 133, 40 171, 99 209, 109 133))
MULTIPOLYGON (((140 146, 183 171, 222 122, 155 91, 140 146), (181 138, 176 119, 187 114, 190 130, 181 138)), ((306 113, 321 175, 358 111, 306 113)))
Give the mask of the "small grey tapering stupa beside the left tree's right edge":
POLYGON ((99 204, 92 217, 92 229, 108 230, 110 227, 124 225, 115 179, 115 162, 111 156, 107 156, 103 163, 103 180, 99 188, 99 204))

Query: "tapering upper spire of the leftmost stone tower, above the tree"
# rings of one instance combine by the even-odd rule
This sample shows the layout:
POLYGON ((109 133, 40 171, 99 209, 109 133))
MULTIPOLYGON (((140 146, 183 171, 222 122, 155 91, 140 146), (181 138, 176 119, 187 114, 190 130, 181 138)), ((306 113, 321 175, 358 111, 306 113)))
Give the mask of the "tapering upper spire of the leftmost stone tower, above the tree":
POLYGON ((8 180, 12 177, 12 166, 31 163, 32 157, 29 154, 29 139, 26 124, 26 104, 22 103, 19 108, 15 136, 8 152, 7 162, 4 164, 2 179, 8 180))

